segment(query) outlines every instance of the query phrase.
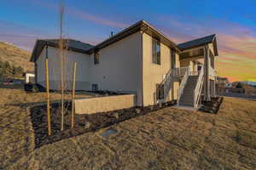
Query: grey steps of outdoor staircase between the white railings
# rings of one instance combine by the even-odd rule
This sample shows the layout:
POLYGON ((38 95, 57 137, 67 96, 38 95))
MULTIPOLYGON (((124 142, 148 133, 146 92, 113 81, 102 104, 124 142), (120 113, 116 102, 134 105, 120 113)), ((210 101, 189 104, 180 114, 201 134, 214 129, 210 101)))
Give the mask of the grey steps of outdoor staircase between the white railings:
POLYGON ((189 76, 183 94, 180 97, 179 105, 194 107, 194 90, 199 76, 189 76))

